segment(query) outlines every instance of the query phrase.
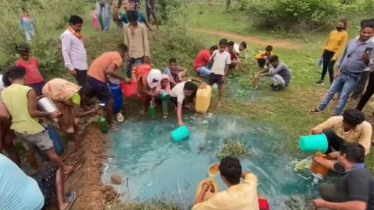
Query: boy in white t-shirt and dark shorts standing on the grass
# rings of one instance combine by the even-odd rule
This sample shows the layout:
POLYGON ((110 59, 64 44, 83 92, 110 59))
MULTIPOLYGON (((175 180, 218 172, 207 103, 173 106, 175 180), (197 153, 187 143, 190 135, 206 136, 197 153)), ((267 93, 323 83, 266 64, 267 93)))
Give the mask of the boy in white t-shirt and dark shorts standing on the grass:
POLYGON ((227 39, 221 39, 219 49, 214 51, 210 57, 210 63, 213 64, 213 66, 209 75, 209 85, 218 85, 218 107, 222 106, 224 80, 231 64, 230 53, 226 51, 227 43, 227 39))

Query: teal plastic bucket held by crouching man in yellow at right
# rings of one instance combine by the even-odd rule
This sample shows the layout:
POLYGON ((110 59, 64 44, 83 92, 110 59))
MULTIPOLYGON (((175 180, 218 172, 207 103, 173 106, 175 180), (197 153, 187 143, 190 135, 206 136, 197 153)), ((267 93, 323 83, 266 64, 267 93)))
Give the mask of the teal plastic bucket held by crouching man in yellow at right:
POLYGON ((302 136, 299 139, 299 148, 302 152, 315 153, 320 150, 322 153, 326 153, 328 147, 329 143, 324 134, 302 136))

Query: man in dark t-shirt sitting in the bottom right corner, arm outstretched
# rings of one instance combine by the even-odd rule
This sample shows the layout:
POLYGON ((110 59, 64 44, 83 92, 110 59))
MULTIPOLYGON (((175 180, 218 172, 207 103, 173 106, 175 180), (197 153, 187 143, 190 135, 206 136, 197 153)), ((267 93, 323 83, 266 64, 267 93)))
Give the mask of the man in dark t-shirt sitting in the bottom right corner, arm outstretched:
POLYGON ((341 146, 337 162, 313 157, 314 161, 334 171, 339 176, 337 184, 322 183, 322 199, 313 200, 317 210, 373 210, 374 177, 365 165, 365 149, 359 143, 341 146))

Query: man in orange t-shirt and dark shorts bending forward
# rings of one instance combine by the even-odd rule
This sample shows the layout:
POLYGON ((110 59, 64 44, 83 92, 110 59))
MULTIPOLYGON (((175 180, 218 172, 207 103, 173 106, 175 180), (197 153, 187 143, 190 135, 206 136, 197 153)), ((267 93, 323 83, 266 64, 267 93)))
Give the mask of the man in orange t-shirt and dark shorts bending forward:
POLYGON ((88 70, 88 84, 91 88, 93 88, 95 96, 100 101, 106 102, 106 120, 112 129, 115 129, 115 127, 112 125, 114 99, 107 85, 107 77, 110 76, 125 82, 130 81, 128 78, 123 77, 116 72, 116 70, 120 69, 124 61, 126 61, 127 52, 127 46, 120 44, 118 45, 118 51, 103 53, 96 58, 88 70))

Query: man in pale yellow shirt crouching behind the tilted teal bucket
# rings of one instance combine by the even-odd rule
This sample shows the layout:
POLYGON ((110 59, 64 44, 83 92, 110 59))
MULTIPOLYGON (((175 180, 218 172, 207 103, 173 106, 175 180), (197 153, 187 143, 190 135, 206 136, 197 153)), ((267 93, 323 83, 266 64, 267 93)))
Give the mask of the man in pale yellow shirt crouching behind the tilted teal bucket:
POLYGON ((336 151, 347 143, 359 143, 365 148, 365 155, 370 152, 372 139, 372 125, 365 121, 365 115, 357 109, 347 109, 343 116, 332 117, 317 127, 313 128, 311 134, 325 134, 329 142, 331 157, 337 157, 337 152, 331 153, 334 148, 336 151))

